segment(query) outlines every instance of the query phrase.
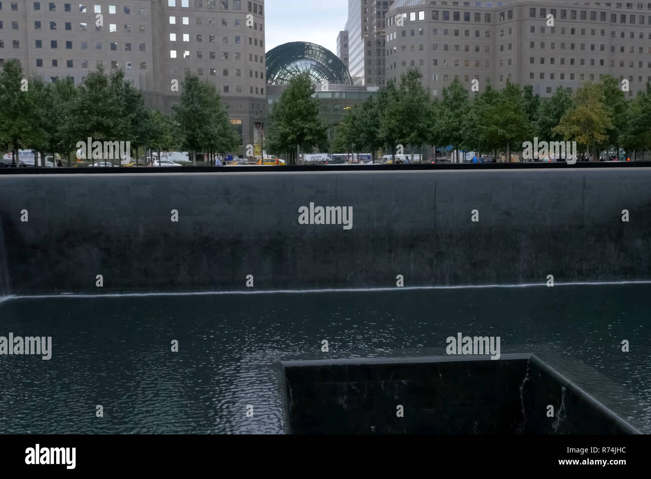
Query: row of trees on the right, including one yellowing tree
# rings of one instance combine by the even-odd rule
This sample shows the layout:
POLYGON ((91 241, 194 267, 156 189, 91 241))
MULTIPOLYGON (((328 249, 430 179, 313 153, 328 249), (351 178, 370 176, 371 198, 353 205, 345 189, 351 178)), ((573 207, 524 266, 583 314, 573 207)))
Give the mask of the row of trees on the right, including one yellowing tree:
POLYGON ((401 76, 400 87, 389 81, 377 98, 350 109, 330 151, 387 148, 395 154, 396 145, 452 145, 456 151, 505 152, 510 158, 522 150, 523 141, 536 136, 540 141, 577 141, 594 158, 620 148, 637 157, 637 152, 651 150, 651 83, 631 100, 612 76, 584 83, 574 93, 559 87, 551 98, 508 81, 501 91, 488 84, 469 98, 454 80, 439 99, 422 86, 419 70, 411 69, 401 76))

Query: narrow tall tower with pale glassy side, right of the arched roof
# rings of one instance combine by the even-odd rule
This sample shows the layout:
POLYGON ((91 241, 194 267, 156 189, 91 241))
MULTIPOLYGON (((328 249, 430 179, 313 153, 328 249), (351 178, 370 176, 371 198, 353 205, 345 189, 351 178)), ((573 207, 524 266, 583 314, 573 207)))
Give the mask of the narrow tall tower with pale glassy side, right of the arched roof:
POLYGON ((383 85, 386 16, 393 0, 348 0, 348 69, 355 85, 383 85))

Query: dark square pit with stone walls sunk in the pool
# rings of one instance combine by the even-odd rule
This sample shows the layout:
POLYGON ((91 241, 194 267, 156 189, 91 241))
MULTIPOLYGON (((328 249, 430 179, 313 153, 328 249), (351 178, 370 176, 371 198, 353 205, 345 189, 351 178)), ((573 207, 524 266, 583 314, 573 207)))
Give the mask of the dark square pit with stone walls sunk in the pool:
POLYGON ((296 434, 637 433, 529 355, 287 361, 281 368, 286 428, 296 434))

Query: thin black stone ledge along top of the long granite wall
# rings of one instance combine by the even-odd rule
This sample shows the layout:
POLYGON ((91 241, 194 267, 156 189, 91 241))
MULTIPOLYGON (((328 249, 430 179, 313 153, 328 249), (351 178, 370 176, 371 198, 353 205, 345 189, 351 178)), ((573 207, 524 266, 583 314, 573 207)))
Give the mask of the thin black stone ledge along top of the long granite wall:
POLYGON ((111 174, 152 174, 152 173, 245 173, 247 171, 265 173, 290 173, 296 171, 416 171, 416 170, 504 170, 504 169, 599 169, 651 167, 649 162, 565 162, 554 163, 441 163, 413 165, 296 165, 296 166, 154 166, 154 167, 0 167, 0 175, 111 175, 111 174))

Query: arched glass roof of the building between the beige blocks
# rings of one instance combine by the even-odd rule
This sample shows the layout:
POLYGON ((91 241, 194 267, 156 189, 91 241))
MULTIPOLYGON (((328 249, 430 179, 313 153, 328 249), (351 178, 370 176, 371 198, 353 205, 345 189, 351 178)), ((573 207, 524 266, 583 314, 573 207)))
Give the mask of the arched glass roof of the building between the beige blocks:
POLYGON ((308 42, 279 45, 266 54, 267 84, 283 85, 307 72, 312 83, 352 85, 346 65, 330 50, 308 42))

